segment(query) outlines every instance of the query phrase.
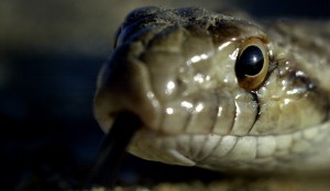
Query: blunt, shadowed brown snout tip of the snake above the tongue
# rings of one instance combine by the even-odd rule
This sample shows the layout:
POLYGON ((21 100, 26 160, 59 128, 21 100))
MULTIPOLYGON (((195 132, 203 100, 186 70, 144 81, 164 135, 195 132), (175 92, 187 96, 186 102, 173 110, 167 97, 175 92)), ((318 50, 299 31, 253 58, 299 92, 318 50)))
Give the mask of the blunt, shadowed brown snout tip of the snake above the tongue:
POLYGON ((139 48, 139 44, 122 45, 100 71, 94 110, 105 132, 109 132, 120 112, 138 115, 145 126, 158 123, 160 103, 151 91, 145 66, 134 55, 139 48))

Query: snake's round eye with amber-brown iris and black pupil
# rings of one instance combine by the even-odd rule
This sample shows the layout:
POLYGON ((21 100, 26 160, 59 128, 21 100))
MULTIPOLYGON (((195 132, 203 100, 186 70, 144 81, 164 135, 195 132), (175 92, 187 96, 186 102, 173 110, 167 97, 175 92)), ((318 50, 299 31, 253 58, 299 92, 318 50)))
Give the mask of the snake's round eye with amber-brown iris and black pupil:
POLYGON ((257 88, 268 71, 268 55, 260 38, 249 38, 241 48, 235 64, 240 87, 246 90, 257 88))

